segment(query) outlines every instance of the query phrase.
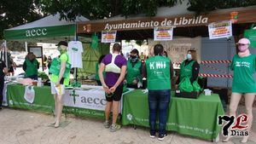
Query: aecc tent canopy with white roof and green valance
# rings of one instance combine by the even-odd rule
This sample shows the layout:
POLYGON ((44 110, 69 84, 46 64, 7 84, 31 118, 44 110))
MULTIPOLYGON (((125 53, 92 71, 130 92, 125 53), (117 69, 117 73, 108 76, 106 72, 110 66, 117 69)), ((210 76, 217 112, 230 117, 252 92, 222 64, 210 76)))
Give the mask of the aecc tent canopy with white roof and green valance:
POLYGON ((60 40, 73 40, 76 36, 76 22, 88 21, 77 16, 74 21, 60 20, 60 14, 51 14, 43 19, 4 30, 5 40, 25 42, 57 43, 60 40))

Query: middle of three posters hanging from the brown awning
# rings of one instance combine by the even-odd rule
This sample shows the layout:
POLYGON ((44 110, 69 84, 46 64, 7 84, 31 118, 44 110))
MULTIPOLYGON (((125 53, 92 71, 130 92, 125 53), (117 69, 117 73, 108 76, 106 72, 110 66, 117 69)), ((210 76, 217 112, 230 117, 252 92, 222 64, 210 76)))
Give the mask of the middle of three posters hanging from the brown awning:
POLYGON ((154 41, 170 41, 173 36, 173 27, 154 27, 154 41))

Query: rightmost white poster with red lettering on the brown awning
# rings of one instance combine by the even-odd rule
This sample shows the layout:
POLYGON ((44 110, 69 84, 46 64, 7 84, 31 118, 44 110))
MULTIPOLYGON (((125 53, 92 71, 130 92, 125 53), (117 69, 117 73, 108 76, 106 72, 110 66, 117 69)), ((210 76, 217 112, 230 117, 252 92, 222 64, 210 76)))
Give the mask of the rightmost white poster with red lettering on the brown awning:
POLYGON ((208 25, 208 32, 210 39, 224 38, 232 36, 232 22, 222 21, 215 22, 208 25))

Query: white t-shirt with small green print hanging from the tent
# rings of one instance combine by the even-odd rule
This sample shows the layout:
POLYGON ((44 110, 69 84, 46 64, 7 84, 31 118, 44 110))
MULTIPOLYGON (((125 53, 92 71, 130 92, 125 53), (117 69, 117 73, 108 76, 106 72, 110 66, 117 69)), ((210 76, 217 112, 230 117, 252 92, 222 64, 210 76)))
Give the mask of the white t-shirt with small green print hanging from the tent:
POLYGON ((68 55, 71 59, 71 67, 83 68, 82 53, 83 45, 79 41, 71 41, 68 43, 68 55))

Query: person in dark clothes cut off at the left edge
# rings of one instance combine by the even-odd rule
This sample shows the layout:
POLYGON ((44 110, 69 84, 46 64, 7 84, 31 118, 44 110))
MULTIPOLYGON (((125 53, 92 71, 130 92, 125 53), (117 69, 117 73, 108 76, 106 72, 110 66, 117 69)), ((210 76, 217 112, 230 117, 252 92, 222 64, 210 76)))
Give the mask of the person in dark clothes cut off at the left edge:
POLYGON ((3 60, 0 60, 0 69, 0 110, 2 110, 4 76, 8 73, 8 69, 3 60))

